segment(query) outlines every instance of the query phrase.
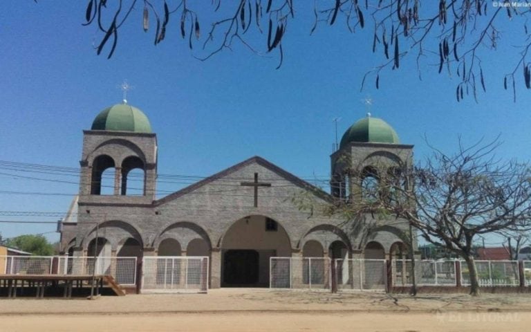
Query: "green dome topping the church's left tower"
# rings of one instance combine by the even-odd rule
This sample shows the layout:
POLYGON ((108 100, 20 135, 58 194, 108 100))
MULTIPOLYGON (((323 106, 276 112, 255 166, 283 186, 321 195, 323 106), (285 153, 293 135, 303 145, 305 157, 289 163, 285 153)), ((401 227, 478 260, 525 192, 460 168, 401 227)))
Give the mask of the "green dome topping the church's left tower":
POLYGON ((92 122, 92 130, 151 133, 151 124, 140 109, 128 104, 115 104, 96 116, 92 122))

